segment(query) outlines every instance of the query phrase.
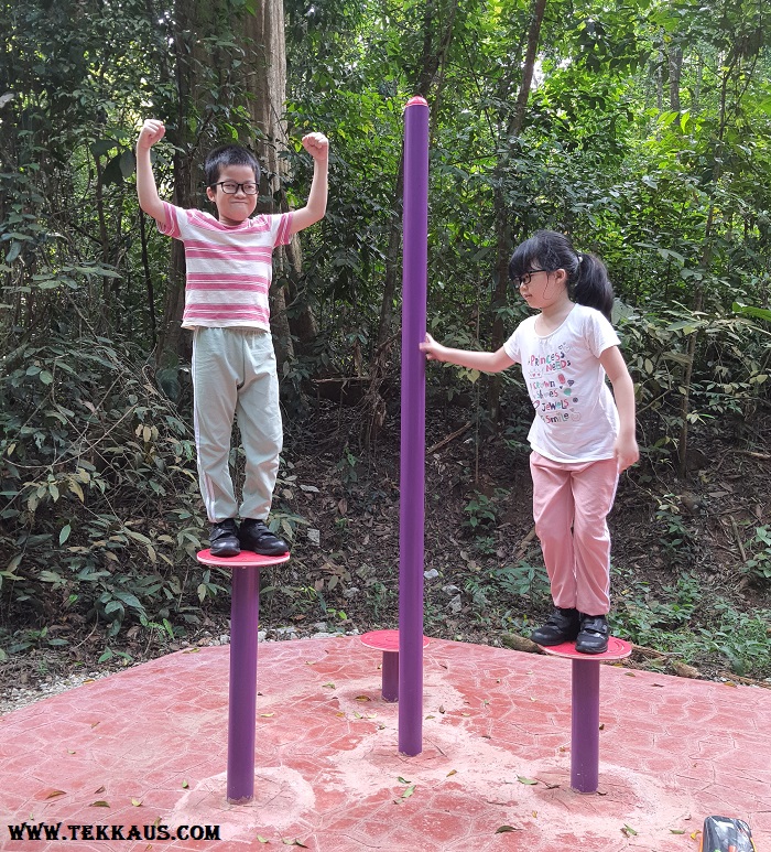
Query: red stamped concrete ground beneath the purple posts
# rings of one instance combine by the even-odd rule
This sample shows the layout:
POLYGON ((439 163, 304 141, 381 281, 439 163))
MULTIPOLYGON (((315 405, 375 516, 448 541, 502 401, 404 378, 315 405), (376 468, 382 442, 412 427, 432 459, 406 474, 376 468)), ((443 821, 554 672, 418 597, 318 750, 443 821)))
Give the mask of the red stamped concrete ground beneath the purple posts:
POLYGON ((45 822, 99 852, 695 852, 720 815, 771 850, 767 690, 604 665, 599 791, 580 795, 567 660, 432 641, 424 748, 405 757, 377 651, 345 637, 259 653, 252 804, 226 801, 228 648, 181 651, 0 718, 0 848, 61 850, 10 837, 45 822), (219 840, 152 839, 162 826, 219 840))

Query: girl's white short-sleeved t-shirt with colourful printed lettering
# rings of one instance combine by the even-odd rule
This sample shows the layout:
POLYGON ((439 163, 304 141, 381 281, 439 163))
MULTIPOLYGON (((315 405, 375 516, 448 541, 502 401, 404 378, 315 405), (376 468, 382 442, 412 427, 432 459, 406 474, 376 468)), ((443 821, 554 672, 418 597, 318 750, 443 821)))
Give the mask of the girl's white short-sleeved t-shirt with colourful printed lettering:
POLYGON ((555 462, 596 462, 613 457, 618 411, 599 356, 618 346, 613 326, 594 308, 576 304, 563 324, 546 335, 529 316, 503 344, 522 365, 535 409, 528 441, 555 462))

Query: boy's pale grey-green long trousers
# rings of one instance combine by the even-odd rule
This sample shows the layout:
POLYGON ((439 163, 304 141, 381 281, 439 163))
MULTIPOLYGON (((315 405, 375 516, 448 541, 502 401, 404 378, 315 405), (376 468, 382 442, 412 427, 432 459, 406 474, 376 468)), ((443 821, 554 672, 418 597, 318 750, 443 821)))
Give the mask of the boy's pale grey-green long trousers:
POLYGON ((198 483, 209 522, 264 519, 283 442, 273 338, 259 328, 198 327, 192 366, 198 483), (246 454, 240 510, 228 465, 235 417, 246 454))

